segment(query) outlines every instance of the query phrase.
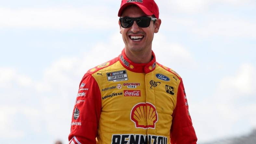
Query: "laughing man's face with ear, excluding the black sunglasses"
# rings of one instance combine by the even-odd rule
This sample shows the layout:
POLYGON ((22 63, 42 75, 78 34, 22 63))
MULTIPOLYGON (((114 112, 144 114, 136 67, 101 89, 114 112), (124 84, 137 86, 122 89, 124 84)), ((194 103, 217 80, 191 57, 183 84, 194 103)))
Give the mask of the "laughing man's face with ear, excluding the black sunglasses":
MULTIPOLYGON (((137 6, 129 6, 122 13, 122 17, 137 18, 141 16, 147 15, 137 6)), ((137 25, 136 21, 134 21, 132 27, 122 28, 119 22, 120 33, 122 34, 125 49, 134 53, 151 52, 154 33, 158 32, 160 24, 161 20, 158 19, 155 24, 151 21, 149 27, 141 28, 137 25)))

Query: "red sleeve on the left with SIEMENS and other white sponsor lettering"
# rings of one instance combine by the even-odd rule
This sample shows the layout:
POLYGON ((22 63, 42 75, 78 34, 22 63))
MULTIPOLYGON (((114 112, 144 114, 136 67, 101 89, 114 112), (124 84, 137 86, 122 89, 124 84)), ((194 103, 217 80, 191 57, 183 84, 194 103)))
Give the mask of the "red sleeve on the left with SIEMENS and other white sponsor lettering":
POLYGON ((72 113, 69 144, 96 144, 101 94, 96 80, 85 74, 72 113))

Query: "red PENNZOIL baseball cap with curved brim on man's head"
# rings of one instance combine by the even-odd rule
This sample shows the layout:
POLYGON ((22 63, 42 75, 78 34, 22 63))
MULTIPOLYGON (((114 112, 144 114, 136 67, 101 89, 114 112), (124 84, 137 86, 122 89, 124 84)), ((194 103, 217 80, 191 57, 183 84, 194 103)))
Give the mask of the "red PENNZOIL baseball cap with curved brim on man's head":
POLYGON ((155 15, 159 18, 159 9, 154 0, 122 0, 118 17, 121 17, 123 10, 131 5, 138 6, 148 16, 155 15))

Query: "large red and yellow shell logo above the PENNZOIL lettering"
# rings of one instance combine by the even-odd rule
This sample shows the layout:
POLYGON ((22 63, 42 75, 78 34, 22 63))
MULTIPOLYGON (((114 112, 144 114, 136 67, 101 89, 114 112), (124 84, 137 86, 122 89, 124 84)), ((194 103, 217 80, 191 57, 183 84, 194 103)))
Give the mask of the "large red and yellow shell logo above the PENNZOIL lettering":
POLYGON ((137 103, 132 108, 131 121, 135 123, 136 128, 155 129, 155 124, 158 121, 156 107, 149 102, 137 103))

